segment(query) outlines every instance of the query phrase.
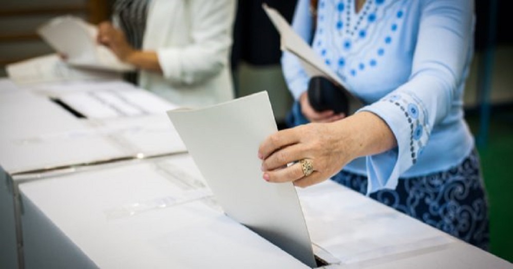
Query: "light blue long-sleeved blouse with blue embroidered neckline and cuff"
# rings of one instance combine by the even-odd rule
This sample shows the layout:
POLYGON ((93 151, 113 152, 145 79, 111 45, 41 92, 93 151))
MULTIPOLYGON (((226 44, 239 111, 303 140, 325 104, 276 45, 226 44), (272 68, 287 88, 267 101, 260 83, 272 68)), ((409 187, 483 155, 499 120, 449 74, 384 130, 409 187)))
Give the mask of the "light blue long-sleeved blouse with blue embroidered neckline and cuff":
MULTIPOLYGON (((473 55, 470 0, 320 0, 312 32, 308 0, 299 0, 292 27, 365 107, 390 126, 398 146, 359 158, 345 170, 367 175, 368 193, 395 188, 461 163, 474 147, 464 121, 463 90, 473 55), (312 36, 313 35, 313 36, 312 36), (313 39, 312 39, 313 38, 313 39)), ((309 77, 283 53, 282 69, 297 100, 309 77)))

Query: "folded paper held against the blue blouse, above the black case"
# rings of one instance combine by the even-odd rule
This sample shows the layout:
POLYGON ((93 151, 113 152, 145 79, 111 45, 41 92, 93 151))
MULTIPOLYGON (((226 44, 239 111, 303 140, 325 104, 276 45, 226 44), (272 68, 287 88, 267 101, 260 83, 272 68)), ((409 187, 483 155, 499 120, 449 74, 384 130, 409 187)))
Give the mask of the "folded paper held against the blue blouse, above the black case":
MULTIPOLYGON (((269 16, 276 30, 280 34, 280 46, 282 51, 288 51, 298 57, 303 69, 312 76, 324 76, 333 83, 338 84, 345 89, 348 86, 339 78, 339 76, 328 67, 317 53, 299 36, 281 14, 266 4, 262 5, 263 10, 269 16)), ((350 91, 344 90, 349 99, 349 112, 352 114, 358 108, 363 106, 361 100, 354 96, 350 91)))

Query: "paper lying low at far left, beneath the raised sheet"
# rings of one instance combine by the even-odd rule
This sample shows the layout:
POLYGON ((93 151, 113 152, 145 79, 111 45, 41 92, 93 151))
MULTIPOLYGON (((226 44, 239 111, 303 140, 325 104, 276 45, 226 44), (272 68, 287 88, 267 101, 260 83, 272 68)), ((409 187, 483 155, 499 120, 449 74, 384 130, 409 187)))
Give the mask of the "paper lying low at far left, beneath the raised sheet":
POLYGON ((16 84, 121 79, 120 74, 116 72, 74 68, 67 65, 57 54, 10 64, 6 71, 9 79, 16 84))

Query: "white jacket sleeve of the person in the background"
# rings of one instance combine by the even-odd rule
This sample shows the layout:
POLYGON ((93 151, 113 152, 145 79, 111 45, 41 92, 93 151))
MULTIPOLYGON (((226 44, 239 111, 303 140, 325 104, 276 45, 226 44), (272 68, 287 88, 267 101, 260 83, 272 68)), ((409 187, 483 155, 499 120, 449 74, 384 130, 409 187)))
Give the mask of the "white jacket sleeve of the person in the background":
MULTIPOLYGON (((195 84, 212 78, 229 65, 235 0, 188 0, 192 44, 159 48, 164 78, 195 84)), ((172 14, 169 14, 172 15, 172 14)))

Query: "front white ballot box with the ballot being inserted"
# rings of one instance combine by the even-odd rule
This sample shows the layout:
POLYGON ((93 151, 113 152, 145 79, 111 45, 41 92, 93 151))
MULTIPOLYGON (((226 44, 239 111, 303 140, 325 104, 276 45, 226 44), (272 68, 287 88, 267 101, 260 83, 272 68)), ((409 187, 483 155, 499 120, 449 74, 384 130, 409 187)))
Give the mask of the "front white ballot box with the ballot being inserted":
MULTIPOLYGON (((224 215, 188 155, 19 188, 26 268, 307 267, 224 215)), ((297 190, 318 268, 512 268, 334 182, 297 190)))

